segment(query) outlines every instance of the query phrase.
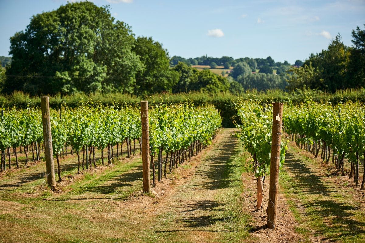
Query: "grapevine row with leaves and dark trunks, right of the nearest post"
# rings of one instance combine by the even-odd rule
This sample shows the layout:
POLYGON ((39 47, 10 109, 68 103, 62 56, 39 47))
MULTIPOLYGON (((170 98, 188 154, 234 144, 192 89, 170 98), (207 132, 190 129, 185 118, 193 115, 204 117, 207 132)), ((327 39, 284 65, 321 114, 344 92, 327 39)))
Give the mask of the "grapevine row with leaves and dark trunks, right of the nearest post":
MULTIPOLYGON (((284 127, 297 145, 321 157, 329 164, 331 157, 338 172, 345 176, 344 161, 350 162, 350 178, 358 185, 360 157, 365 157, 365 107, 361 103, 337 106, 308 101, 288 106, 284 127), (332 156, 331 156, 332 155, 332 156)), ((365 159, 364 159, 365 164, 365 159)), ((365 168, 361 183, 364 189, 365 168)))

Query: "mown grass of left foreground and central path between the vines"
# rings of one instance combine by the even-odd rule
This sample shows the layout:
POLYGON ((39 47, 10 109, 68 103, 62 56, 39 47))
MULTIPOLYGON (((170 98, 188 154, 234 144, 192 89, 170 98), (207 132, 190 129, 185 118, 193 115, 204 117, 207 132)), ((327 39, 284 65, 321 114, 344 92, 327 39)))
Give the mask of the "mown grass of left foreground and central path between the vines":
POLYGON ((141 194, 138 157, 62 193, 20 193, 34 181, 0 191, 0 242, 237 242, 248 235, 240 201, 247 157, 237 156, 232 132, 223 129, 200 161, 185 165, 191 174, 176 175, 160 197, 141 194))

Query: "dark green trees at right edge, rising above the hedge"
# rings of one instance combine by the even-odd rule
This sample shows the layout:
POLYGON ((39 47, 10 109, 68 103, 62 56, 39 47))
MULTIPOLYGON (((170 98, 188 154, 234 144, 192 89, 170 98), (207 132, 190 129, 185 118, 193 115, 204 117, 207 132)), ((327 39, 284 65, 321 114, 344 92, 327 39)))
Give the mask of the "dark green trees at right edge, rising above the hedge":
MULTIPOLYGON (((364 24, 365 27, 365 24, 364 24)), ((343 44, 338 34, 327 50, 311 54, 303 67, 293 67, 289 90, 310 88, 335 92, 365 87, 365 30, 357 26, 351 32, 353 45, 343 44)))

